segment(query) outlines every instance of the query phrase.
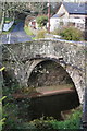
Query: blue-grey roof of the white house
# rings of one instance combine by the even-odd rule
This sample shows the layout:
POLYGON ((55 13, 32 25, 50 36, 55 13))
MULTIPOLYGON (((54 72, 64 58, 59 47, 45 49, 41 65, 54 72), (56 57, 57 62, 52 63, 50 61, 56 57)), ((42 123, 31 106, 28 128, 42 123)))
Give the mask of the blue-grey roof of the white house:
POLYGON ((87 14, 87 3, 63 2, 70 14, 87 14))

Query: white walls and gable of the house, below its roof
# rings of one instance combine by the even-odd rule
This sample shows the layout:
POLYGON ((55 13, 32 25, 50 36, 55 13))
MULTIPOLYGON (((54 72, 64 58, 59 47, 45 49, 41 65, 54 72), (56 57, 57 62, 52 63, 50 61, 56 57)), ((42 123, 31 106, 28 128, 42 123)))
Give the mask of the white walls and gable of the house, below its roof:
POLYGON ((69 14, 63 4, 58 10, 57 14, 58 17, 50 19, 50 31, 54 31, 55 28, 60 28, 62 26, 74 26, 78 29, 85 31, 85 19, 87 15, 69 14))

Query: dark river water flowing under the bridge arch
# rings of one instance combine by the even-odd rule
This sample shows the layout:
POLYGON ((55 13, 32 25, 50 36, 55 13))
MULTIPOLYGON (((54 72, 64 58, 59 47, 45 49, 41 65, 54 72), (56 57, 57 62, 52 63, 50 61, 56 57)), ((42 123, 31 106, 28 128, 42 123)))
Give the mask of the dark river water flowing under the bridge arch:
MULTIPOLYGON (((60 85, 62 86, 62 85, 60 85)), ((23 98, 17 99, 20 106, 20 117, 25 119, 25 112, 27 112, 26 118, 28 120, 34 120, 41 117, 53 117, 58 120, 63 120, 63 111, 71 110, 79 106, 78 95, 75 88, 72 90, 59 90, 58 92, 52 91, 48 94, 37 95, 37 97, 32 97, 30 99, 26 100, 24 98, 24 103, 27 102, 27 107, 25 111, 23 111, 23 98), (24 112, 24 114, 23 114, 24 112), (61 114, 62 112, 62 114, 61 114)), ((57 86, 54 86, 57 90, 57 86)), ((51 88, 54 88, 51 86, 51 88)), ((37 90, 42 93, 42 90, 37 90)), ((49 91, 49 87, 48 90, 49 91)))

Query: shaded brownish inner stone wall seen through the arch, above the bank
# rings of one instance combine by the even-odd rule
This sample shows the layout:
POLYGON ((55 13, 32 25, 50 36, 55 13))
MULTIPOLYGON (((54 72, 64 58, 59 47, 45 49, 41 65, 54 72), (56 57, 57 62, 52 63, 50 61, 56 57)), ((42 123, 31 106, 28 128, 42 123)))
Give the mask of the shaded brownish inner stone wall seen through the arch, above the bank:
POLYGON ((35 66, 27 84, 34 87, 61 84, 72 84, 75 86, 65 69, 53 60, 44 60, 35 66))

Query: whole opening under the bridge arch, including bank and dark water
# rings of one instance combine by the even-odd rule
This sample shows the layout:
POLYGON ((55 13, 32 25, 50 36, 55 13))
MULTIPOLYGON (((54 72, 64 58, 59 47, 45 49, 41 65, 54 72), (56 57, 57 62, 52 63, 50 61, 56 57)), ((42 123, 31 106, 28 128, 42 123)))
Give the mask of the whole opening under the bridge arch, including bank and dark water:
POLYGON ((40 93, 40 97, 32 99, 33 119, 42 115, 62 119, 61 111, 65 112, 79 106, 73 80, 57 61, 39 62, 32 71, 27 84, 28 88, 33 87, 40 93))

